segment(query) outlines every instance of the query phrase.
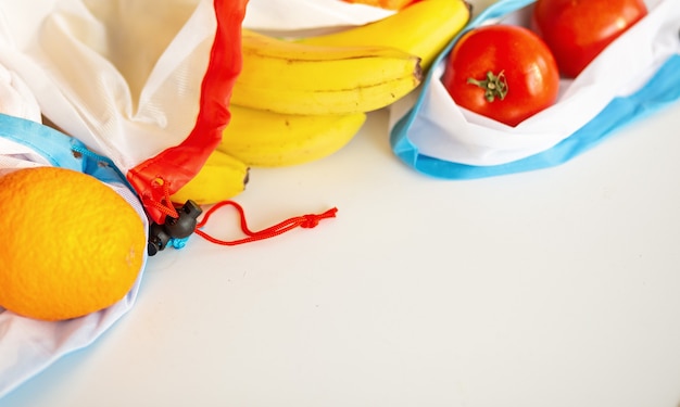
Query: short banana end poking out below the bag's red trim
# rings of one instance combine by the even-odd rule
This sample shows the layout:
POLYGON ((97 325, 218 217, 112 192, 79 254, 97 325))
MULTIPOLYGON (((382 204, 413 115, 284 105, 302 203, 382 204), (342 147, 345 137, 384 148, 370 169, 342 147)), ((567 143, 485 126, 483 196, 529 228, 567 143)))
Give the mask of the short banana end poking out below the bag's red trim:
POLYGON ((171 195, 171 200, 181 204, 192 200, 199 205, 229 200, 243 192, 248 183, 248 175, 247 164, 215 150, 207 157, 199 174, 171 195))

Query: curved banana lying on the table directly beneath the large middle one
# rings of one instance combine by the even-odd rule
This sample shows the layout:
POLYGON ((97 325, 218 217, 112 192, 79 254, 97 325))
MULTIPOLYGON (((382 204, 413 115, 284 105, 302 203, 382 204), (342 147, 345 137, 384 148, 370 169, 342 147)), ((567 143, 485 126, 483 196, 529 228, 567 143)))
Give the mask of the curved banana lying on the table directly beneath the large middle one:
POLYGON ((365 113, 289 115, 230 104, 231 120, 217 150, 250 166, 280 167, 326 157, 344 147, 365 113))

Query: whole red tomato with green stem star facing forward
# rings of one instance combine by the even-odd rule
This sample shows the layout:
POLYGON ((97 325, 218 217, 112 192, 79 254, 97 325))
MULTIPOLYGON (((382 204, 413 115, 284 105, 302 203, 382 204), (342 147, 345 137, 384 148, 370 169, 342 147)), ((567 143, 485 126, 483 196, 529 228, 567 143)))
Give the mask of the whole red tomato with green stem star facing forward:
POLYGON ((464 34, 449 55, 442 82, 457 105, 509 126, 555 103, 559 72, 531 30, 490 25, 464 34))

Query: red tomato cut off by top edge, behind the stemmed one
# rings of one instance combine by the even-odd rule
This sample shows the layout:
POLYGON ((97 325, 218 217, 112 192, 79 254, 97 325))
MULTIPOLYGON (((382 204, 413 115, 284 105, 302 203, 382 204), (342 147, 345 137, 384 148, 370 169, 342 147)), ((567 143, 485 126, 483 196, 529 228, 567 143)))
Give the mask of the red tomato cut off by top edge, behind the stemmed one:
POLYGON ((533 24, 562 74, 574 78, 646 14, 643 0, 538 0, 533 24))

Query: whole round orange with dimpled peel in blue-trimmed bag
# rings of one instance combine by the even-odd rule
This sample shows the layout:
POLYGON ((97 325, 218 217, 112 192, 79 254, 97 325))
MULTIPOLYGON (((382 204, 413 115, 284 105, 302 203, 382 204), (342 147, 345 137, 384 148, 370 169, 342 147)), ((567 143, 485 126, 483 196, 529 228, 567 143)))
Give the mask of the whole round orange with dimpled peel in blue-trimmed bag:
POLYGON ((0 178, 0 305, 42 319, 80 317, 122 300, 142 266, 144 226, 97 178, 65 168, 0 178))

